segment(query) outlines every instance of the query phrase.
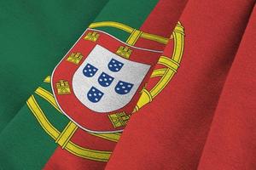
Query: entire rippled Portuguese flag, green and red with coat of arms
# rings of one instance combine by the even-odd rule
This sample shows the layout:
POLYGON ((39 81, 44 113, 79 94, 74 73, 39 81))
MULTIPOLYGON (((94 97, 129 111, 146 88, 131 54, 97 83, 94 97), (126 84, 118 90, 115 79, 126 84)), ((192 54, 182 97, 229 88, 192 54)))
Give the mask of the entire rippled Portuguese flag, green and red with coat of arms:
POLYGON ((44 82, 3 115, 0 169, 256 168, 253 0, 84 2, 18 3, 89 14, 69 50, 48 28, 67 51, 41 56, 44 82))

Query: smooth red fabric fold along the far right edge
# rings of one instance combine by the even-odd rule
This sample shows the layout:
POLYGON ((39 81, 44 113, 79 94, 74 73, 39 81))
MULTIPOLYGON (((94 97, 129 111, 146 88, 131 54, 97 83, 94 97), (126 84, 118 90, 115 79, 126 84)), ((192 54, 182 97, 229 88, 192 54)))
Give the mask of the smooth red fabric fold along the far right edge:
POLYGON ((256 9, 224 84, 199 169, 255 169, 256 9))

